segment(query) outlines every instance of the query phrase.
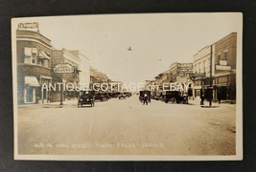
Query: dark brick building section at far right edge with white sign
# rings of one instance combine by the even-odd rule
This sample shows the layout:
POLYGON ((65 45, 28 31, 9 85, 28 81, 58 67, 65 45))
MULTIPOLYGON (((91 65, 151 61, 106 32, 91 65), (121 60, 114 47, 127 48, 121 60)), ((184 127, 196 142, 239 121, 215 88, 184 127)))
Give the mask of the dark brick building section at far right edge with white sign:
POLYGON ((236 100, 237 33, 231 32, 215 43, 215 99, 236 100))

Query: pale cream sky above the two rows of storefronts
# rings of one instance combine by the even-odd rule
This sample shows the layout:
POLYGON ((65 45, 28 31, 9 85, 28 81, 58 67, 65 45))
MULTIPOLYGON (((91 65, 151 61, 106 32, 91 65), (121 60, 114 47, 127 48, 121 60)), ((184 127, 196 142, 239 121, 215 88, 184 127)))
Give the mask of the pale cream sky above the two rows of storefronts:
POLYGON ((19 18, 38 22, 56 49, 79 50, 110 79, 144 82, 230 32, 242 33, 241 13, 145 13, 19 18), (131 51, 128 48, 131 47, 131 51))

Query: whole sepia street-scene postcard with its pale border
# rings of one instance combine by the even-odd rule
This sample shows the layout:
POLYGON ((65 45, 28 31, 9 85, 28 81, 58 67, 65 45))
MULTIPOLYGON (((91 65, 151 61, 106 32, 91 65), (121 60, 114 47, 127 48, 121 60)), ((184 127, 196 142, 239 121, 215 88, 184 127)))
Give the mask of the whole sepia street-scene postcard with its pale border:
POLYGON ((12 18, 14 160, 243 160, 243 14, 12 18))

